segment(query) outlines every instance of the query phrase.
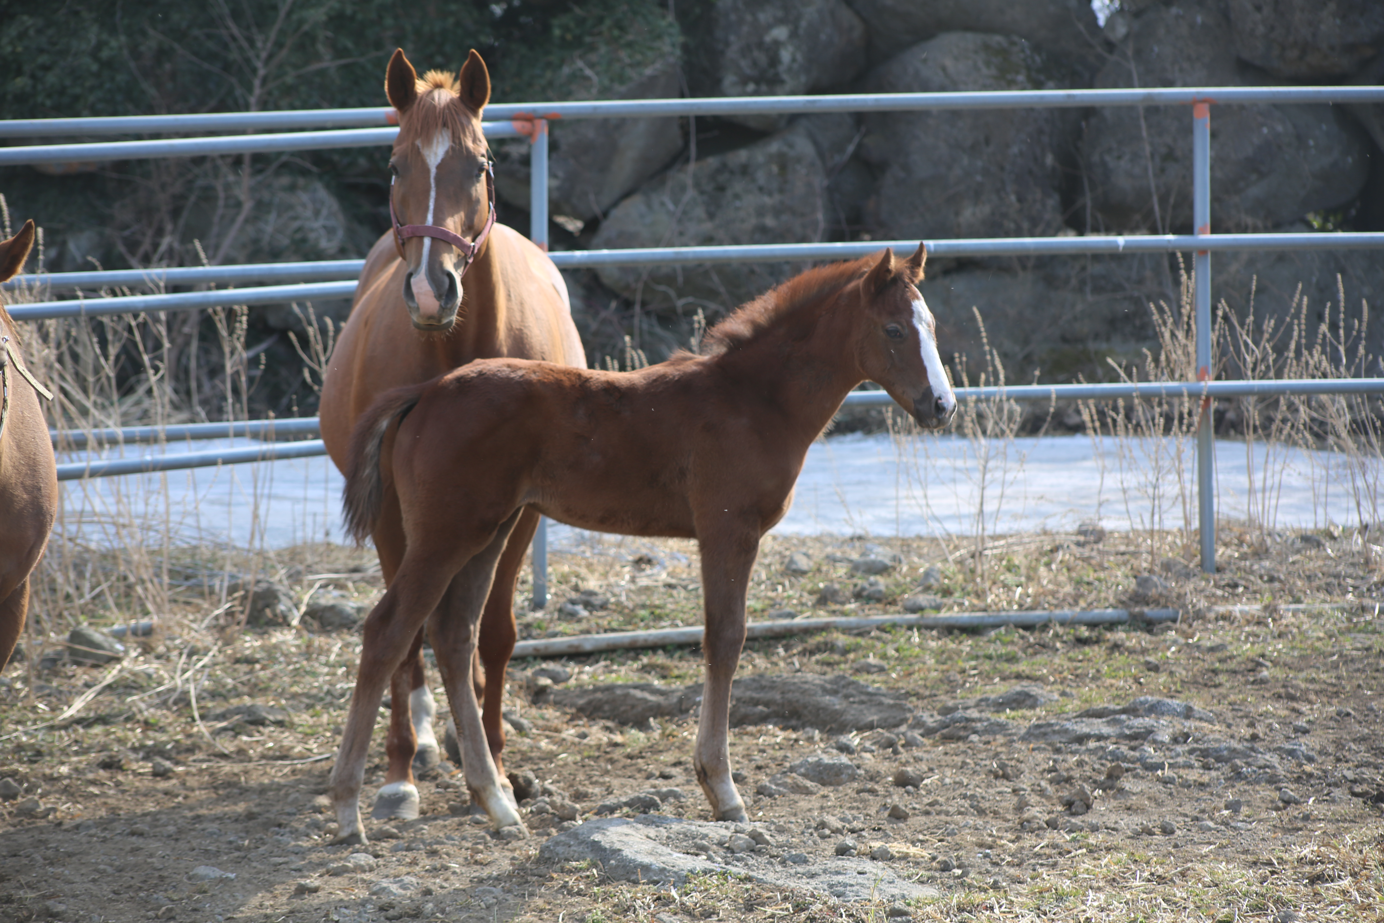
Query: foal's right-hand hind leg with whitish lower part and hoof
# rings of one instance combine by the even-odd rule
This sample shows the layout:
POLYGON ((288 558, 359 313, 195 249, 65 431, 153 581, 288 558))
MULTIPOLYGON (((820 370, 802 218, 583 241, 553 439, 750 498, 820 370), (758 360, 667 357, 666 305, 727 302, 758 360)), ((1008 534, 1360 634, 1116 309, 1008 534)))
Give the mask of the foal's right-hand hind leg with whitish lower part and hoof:
POLYGON ((466 562, 447 588, 443 610, 429 621, 433 653, 437 656, 437 667, 447 685, 447 700, 457 722, 466 787, 471 790, 472 801, 484 808, 495 829, 513 825, 522 828, 523 821, 513 804, 513 796, 507 796, 501 787, 502 776, 490 756, 480 704, 476 702, 476 689, 472 685, 472 671, 476 661, 480 612, 495 577, 495 565, 518 519, 519 511, 515 511, 500 526, 484 551, 466 562))

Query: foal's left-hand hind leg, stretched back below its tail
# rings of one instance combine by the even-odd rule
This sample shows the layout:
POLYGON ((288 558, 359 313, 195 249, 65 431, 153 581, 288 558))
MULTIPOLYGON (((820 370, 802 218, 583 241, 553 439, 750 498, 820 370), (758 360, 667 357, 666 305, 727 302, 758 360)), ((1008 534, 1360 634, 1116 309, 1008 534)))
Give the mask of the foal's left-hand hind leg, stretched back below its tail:
MULTIPOLYGON (((346 729, 331 776, 338 843, 365 843, 365 830, 360 819, 360 786, 365 776, 370 733, 379 714, 385 684, 404 663, 419 627, 437 607, 451 577, 461 569, 461 563, 477 551, 477 545, 475 541, 458 541, 446 556, 418 554, 406 558, 383 599, 365 619, 356 692, 352 695, 346 729)), ((404 726, 412 732, 407 721, 404 726)))

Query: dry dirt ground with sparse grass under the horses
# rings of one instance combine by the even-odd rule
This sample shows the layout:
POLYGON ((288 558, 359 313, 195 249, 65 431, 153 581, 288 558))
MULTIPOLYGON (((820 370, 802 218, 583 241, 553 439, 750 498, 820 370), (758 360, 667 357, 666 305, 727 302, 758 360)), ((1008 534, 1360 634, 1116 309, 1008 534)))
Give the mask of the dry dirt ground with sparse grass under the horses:
MULTIPOLYGON (((367 822, 365 848, 329 846, 322 793, 358 634, 223 624, 205 591, 188 591, 123 660, 50 657, 44 668, 60 639, 30 637, 0 678, 0 920, 1384 919, 1384 552, 1372 538, 1228 529, 1212 577, 1176 556, 1174 537, 1003 537, 983 569, 933 541, 767 540, 752 619, 890 613, 918 594, 943 612, 1182 610, 1160 631, 894 628, 747 645, 742 677, 847 674, 919 715, 854 733, 732 733, 761 857, 830 858, 850 841, 927 886, 907 904, 775 890, 738 875, 736 851, 714 841, 707 854, 727 870, 681 886, 538 857, 574 825, 554 808, 569 801, 580 822, 655 792, 657 812, 710 819, 691 772, 691 715, 585 718, 552 704, 548 686, 675 689, 700 679, 696 648, 513 664, 505 758, 533 774, 541 797, 526 805, 529 839, 501 840, 471 816, 444 764, 419 782, 421 818, 367 822), (794 552, 805 573, 786 567, 794 552), (853 570, 862 556, 887 565, 875 585, 853 570), (1160 580, 1140 592, 1146 574, 1160 580), (541 667, 558 670, 538 679, 541 667), (1014 686, 1037 696, 1012 700, 1028 707, 977 703, 1014 686), (1064 726, 1116 721, 1140 696, 1210 714, 1187 711, 1199 717, 1167 725, 1172 733, 1063 738, 1064 726), (980 717, 947 724, 958 714, 980 717), (857 778, 792 783, 789 767, 814 754, 848 758, 857 778)), ((381 592, 363 551, 304 547, 268 569, 299 601, 310 590, 364 602, 381 592)), ((689 542, 591 542, 555 554, 552 577, 554 601, 520 620, 525 637, 700 617, 689 542), (563 606, 573 599, 580 609, 563 606)), ((94 607, 90 621, 122 617, 94 607)), ((365 797, 382 779, 382 731, 365 797)))

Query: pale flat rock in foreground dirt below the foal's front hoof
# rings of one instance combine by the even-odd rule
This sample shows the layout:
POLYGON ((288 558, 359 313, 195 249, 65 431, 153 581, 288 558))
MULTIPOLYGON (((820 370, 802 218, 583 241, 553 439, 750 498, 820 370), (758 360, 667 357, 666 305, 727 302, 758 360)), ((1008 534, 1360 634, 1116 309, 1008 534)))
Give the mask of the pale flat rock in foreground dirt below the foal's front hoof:
MULTIPOLYGON (((742 825, 743 829, 743 825, 742 825)), ((707 823, 642 814, 637 818, 587 821, 543 844, 548 862, 591 859, 620 881, 684 884, 688 875, 728 872, 774 887, 818 891, 837 901, 905 901, 936 897, 937 890, 905 881, 889 865, 859 857, 811 858, 801 865, 763 852, 709 859, 736 832, 734 823, 707 823)))

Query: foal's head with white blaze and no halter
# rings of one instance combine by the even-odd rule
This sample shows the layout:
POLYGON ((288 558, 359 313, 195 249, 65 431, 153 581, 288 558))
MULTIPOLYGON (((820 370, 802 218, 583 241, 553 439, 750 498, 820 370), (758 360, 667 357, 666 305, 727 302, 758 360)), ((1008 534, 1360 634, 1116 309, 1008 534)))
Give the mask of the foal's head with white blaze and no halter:
POLYGON ((922 244, 907 260, 886 249, 861 280, 857 356, 861 371, 919 426, 937 429, 956 414, 956 394, 937 351, 937 322, 918 291, 926 259, 922 244))

